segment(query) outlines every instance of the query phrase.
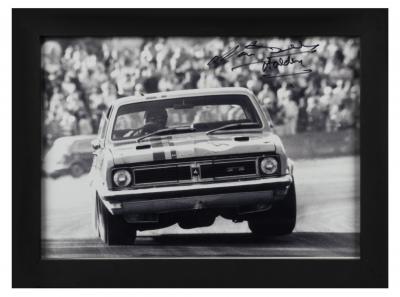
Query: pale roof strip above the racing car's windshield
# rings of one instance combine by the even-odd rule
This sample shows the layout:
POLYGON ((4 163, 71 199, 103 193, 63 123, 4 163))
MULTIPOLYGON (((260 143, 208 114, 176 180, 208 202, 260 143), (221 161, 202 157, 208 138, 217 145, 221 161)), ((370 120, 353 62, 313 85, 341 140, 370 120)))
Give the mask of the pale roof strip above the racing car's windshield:
POLYGON ((241 95, 251 96, 253 93, 246 88, 239 88, 239 87, 190 89, 190 90, 151 93, 151 94, 145 94, 143 96, 123 97, 115 100, 113 102, 113 105, 115 107, 118 107, 128 103, 168 100, 181 97, 197 97, 206 95, 229 95, 229 94, 238 94, 238 95, 241 94, 241 95))

